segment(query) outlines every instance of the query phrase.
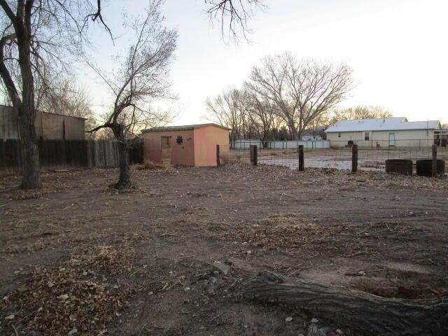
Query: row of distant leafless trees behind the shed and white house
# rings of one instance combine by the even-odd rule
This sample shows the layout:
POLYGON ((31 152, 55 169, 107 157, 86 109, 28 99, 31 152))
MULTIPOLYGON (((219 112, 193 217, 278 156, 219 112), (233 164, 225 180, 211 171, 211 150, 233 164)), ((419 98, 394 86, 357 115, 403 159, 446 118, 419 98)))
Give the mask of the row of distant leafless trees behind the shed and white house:
POLYGON ((392 116, 378 106, 338 109, 352 88, 349 66, 299 60, 284 52, 261 59, 241 88, 208 98, 206 118, 229 127, 231 141, 264 143, 304 135, 323 138, 338 120, 392 116))

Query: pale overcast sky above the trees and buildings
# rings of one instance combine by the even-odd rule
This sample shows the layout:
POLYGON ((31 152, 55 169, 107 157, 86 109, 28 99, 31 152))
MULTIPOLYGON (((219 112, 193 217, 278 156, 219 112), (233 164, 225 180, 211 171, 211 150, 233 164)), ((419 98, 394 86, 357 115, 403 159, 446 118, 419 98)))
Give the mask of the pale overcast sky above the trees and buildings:
MULTIPOLYGON (((95 31, 97 64, 112 70, 111 56, 129 36, 122 34, 125 7, 138 13, 146 0, 112 1, 104 17, 114 35, 95 31)), ((447 0, 267 0, 267 8, 249 22, 251 42, 228 45, 218 25, 204 13, 204 0, 167 0, 167 27, 179 32, 172 64, 173 90, 181 113, 174 124, 203 122, 205 99, 228 87, 239 87, 253 64, 265 55, 288 50, 297 57, 314 57, 353 69, 357 83, 342 106, 379 105, 409 120, 448 122, 447 0)), ((100 113, 110 102, 108 90, 90 71, 80 68, 100 113)))

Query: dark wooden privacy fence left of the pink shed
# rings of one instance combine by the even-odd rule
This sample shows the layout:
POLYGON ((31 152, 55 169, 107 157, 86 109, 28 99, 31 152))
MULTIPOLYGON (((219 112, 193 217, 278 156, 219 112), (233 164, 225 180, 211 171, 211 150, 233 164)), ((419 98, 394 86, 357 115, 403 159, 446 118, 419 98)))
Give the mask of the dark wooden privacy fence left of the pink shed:
MULTIPOLYGON (((118 143, 113 140, 40 140, 39 163, 43 169, 115 168, 120 164, 118 143)), ((0 139, 0 174, 20 172, 20 142, 0 139)), ((130 149, 130 162, 143 162, 143 146, 130 149)))

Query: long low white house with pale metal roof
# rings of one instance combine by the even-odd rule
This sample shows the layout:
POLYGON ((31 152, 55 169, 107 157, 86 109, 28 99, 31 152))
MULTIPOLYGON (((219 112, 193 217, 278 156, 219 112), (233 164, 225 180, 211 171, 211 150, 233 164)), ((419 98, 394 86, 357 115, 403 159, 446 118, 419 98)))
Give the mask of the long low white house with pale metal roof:
POLYGON ((340 120, 325 131, 332 148, 358 144, 360 147, 426 147, 439 139, 438 120, 407 121, 404 117, 340 120))

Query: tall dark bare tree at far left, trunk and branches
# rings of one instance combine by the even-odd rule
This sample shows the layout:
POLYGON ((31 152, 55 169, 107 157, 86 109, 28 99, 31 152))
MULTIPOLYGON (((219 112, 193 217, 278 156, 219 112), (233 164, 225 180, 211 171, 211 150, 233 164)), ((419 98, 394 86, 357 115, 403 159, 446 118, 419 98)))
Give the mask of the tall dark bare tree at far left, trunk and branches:
POLYGON ((61 60, 58 49, 85 38, 84 31, 91 20, 107 26, 102 20, 101 0, 0 0, 0 8, 0 76, 18 114, 22 188, 37 189, 41 181, 34 127, 34 78, 50 63, 49 59, 61 60), (14 76, 15 67, 19 80, 14 76))

